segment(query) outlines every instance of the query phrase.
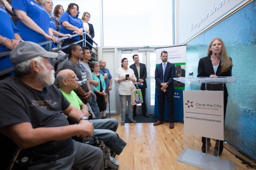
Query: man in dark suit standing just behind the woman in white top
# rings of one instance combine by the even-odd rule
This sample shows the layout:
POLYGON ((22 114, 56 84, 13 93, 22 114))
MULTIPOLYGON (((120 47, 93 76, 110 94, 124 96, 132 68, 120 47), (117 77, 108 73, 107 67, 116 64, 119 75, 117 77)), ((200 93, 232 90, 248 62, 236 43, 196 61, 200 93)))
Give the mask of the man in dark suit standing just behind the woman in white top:
MULTIPOLYGON (((145 117, 149 117, 149 115, 147 114, 147 104, 146 104, 146 88, 147 88, 146 65, 140 63, 138 54, 134 54, 132 56, 132 59, 135 63, 130 65, 130 68, 134 71, 135 77, 137 79, 137 84, 138 84, 139 89, 141 89, 141 94, 142 94, 142 98, 143 98, 143 103, 141 104, 142 113, 145 117)), ((133 106, 133 116, 136 116, 136 114, 137 114, 136 108, 137 108, 137 105, 134 105, 133 106)))

